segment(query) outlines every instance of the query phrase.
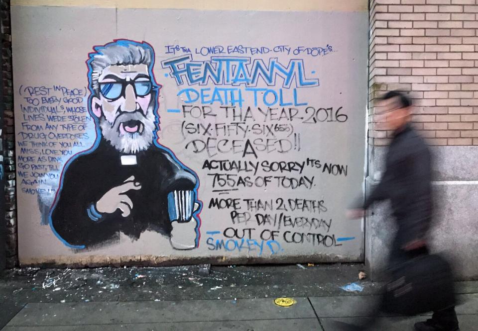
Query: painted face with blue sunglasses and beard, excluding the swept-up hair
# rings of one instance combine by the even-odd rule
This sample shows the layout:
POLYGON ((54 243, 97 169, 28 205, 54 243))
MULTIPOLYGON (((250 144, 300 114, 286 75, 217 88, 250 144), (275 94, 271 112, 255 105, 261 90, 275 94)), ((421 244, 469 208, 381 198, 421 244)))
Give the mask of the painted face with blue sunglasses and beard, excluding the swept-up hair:
POLYGON ((154 91, 146 65, 109 66, 98 79, 92 110, 102 134, 123 153, 147 149, 154 133, 154 91))

